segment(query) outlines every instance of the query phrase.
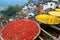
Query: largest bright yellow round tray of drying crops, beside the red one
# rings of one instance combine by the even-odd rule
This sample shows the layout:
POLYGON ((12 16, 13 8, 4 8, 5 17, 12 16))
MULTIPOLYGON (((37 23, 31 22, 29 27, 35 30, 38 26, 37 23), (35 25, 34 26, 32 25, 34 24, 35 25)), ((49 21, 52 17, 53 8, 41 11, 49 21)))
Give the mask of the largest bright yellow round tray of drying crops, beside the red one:
POLYGON ((59 24, 60 23, 60 18, 52 15, 47 15, 47 14, 41 14, 37 15, 36 20, 44 23, 44 24, 59 24))

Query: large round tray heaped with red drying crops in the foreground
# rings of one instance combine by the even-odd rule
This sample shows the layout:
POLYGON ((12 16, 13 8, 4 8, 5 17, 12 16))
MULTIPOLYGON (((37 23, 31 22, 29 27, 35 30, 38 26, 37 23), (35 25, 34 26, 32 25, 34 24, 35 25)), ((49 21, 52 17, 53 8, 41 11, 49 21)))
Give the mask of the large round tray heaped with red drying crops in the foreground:
POLYGON ((40 33, 40 26, 31 20, 16 20, 2 30, 4 40, 34 40, 40 33))

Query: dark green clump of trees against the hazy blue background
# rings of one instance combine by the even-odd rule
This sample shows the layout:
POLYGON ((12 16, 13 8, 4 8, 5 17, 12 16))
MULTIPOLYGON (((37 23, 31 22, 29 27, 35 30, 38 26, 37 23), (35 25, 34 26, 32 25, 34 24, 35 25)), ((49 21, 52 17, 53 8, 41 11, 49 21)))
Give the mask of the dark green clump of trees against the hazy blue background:
POLYGON ((9 5, 5 11, 3 10, 1 12, 7 16, 12 16, 12 15, 15 15, 16 12, 19 12, 20 10, 21 10, 21 6, 19 5, 15 5, 15 6, 9 5))

